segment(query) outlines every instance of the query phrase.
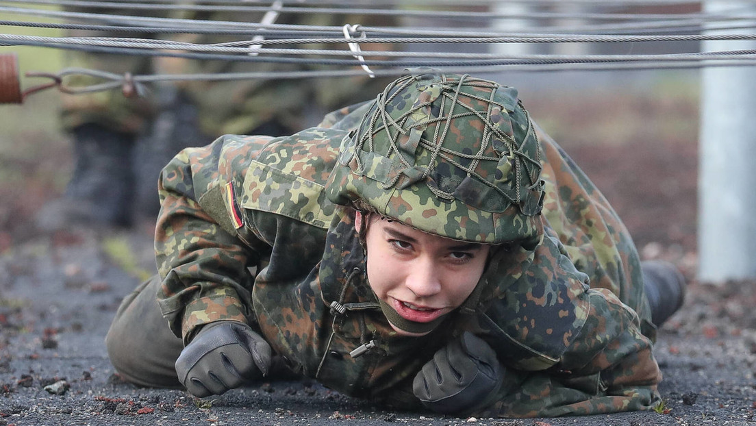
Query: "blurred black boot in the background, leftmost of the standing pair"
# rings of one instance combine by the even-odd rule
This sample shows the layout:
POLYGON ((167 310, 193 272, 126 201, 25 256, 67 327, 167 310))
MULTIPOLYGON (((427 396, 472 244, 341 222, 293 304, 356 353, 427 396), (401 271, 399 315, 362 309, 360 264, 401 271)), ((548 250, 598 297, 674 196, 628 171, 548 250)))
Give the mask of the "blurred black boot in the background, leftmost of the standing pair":
POLYGON ((98 124, 73 130, 73 176, 60 200, 48 203, 37 216, 46 230, 67 225, 128 226, 134 191, 134 135, 98 124))

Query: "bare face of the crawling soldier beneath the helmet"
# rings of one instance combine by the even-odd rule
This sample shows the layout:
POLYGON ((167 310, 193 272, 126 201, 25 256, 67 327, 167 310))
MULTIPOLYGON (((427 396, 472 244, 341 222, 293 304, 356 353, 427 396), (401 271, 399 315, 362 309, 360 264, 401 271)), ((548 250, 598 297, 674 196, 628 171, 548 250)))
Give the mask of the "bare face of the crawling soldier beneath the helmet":
MULTIPOLYGON (((356 229, 363 219, 370 221, 366 236, 370 287, 402 318, 431 322, 459 307, 478 284, 490 249, 487 244, 454 241, 377 215, 365 218, 359 212, 356 229)), ((403 335, 427 334, 392 327, 403 335)))

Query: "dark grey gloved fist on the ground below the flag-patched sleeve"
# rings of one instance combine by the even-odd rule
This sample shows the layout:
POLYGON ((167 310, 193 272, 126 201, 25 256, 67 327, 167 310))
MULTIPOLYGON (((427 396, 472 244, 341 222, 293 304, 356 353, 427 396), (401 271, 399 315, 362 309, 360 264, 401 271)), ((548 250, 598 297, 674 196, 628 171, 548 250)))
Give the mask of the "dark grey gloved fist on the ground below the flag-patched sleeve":
POLYGON ((178 380, 194 396, 220 395, 267 375, 271 346, 249 325, 219 321, 206 325, 176 359, 178 380))

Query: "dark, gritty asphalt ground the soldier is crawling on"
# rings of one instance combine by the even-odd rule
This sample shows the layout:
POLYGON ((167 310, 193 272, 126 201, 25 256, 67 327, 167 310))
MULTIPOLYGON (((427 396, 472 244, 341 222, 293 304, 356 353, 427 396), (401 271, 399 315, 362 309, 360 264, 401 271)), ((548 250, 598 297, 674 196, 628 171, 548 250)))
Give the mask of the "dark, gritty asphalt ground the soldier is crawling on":
POLYGON ((0 254, 0 426, 756 424, 752 282, 689 286, 655 350, 665 376, 660 412, 517 420, 386 411, 311 381, 255 383, 204 400, 124 383, 104 336, 119 300, 153 270, 147 232, 67 229, 0 254))

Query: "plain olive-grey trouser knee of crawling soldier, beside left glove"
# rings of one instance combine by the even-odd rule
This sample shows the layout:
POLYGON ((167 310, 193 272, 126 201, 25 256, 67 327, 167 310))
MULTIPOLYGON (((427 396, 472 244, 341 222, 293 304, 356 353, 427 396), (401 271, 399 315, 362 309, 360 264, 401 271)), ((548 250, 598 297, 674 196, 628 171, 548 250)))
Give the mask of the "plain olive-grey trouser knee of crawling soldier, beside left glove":
POLYGON ((181 388, 175 362, 184 344, 160 313, 154 275, 125 297, 107 331, 110 362, 125 381, 147 387, 181 388))

